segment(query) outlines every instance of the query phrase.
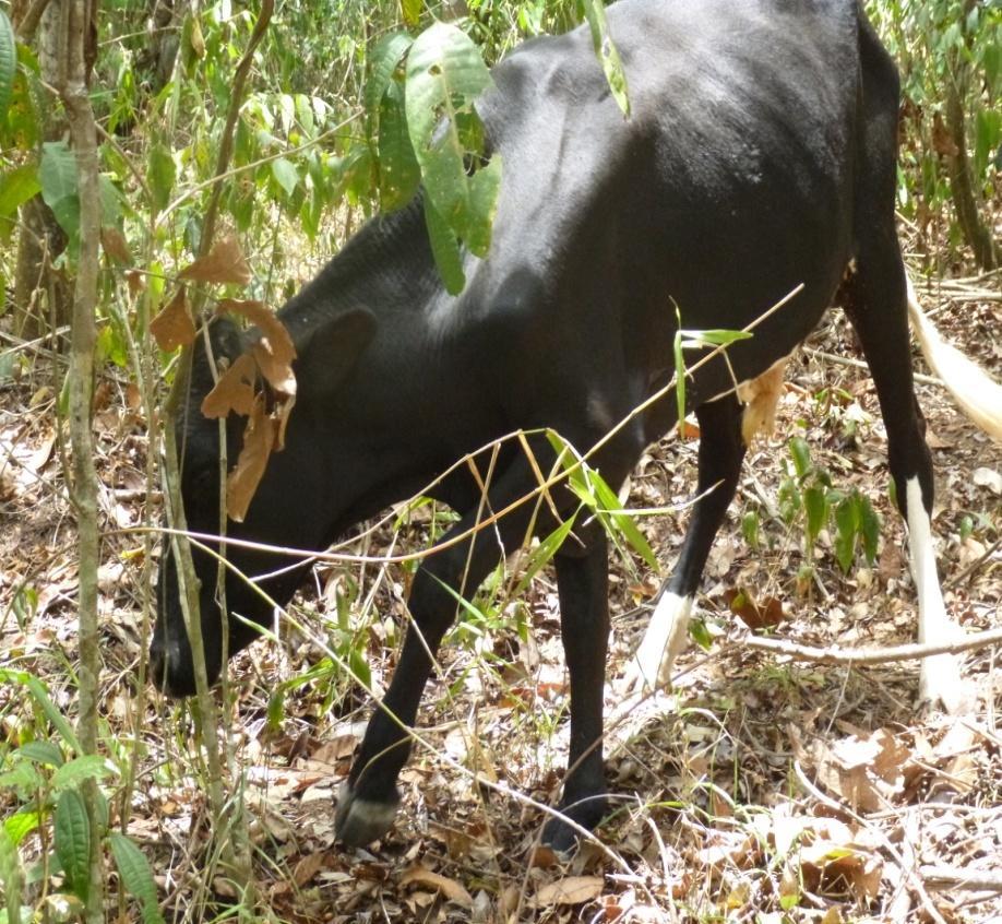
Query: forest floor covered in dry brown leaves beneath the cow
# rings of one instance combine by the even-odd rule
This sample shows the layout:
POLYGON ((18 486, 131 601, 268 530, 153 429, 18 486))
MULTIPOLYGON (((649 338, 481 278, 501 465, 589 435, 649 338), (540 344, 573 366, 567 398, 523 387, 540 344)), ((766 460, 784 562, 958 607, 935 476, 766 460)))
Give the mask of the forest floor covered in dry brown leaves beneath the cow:
MULTIPOLYGON (((999 282, 997 274, 920 286, 941 330, 995 378, 999 282)), ((915 641, 915 592, 875 391, 844 359, 861 355, 836 311, 791 363, 776 436, 750 452, 712 553, 697 601, 711 650, 692 644, 673 690, 625 715, 617 713, 617 679, 659 576, 636 561, 616 565, 606 754, 617 810, 569 861, 536 846, 544 818, 516 795, 554 801, 566 754, 551 578, 461 627, 460 643, 443 649, 420 716, 431 747, 415 748, 396 825, 370 850, 341 849, 333 833, 333 802, 369 713, 366 697, 336 671, 308 673, 323 655, 296 630, 282 630, 283 644, 258 642, 239 656, 229 725, 237 775, 226 785, 242 781, 254 875, 275 919, 1002 921, 1002 679, 993 650, 965 656, 977 701, 968 714, 946 716, 917 707, 915 662, 848 667, 754 650, 728 605, 735 591, 773 613, 778 602, 782 619, 766 633, 801 644, 915 641), (776 514, 795 435, 839 490, 858 488, 872 501, 882 521, 872 566, 860 557, 844 574, 827 531, 806 553, 802 523, 776 514), (755 518, 752 547, 742 522, 755 518), (804 581, 808 557, 815 578, 804 581), (464 768, 515 795, 478 784, 464 768)), ((0 381, 0 663, 40 677, 73 716, 75 532, 52 362, 37 353, 25 375, 0 381)), ((920 358, 916 367, 925 371, 920 358)), ((949 611, 967 632, 1000 628, 1002 451, 942 387, 921 382, 918 395, 937 471, 933 525, 949 611)), ((145 422, 132 390, 110 374, 96 411, 103 739, 119 767, 133 768, 128 831, 153 865, 167 920, 212 920, 213 902, 225 904, 231 887, 206 856, 213 820, 193 719, 136 682, 152 569, 135 528, 159 521, 158 493, 146 490, 145 422)), ((672 508, 640 520, 664 569, 688 519, 696 446, 661 441, 632 479, 630 506, 672 508)), ((391 546, 419 550, 429 520, 415 514, 397 533, 366 534, 354 549, 373 558, 391 546)), ((396 660, 406 582, 405 570, 373 564, 318 566, 296 609, 312 635, 341 650, 355 645, 379 690, 396 660), (338 597, 351 604, 347 624, 338 621, 338 597)), ((21 688, 0 686, 0 758, 37 721, 21 688)), ((121 799, 112 806, 120 816, 121 799)), ((13 791, 0 786, 0 816, 16 808, 13 791)), ((23 849, 39 856, 41 846, 29 840, 23 849)))

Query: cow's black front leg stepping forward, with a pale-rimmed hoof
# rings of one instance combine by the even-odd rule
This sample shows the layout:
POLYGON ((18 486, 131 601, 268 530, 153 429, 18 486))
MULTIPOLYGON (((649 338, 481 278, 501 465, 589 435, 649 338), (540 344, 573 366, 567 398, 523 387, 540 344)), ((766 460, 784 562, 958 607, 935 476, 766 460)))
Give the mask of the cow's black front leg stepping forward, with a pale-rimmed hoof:
MULTIPOLYGON (((548 447, 544 445, 540 451, 548 451, 548 447)), ((468 511, 443 537, 446 547, 429 556, 415 576, 408 603, 411 620, 399 663, 381 706, 369 721, 338 797, 335 829, 344 843, 361 846, 382 837, 392 826, 399 804, 397 774, 410 754, 408 730, 417 718, 432 659, 455 618, 457 595, 479 587, 500 560, 502 547, 504 553, 517 548, 536 504, 529 500, 497 524, 455 545, 449 546, 449 541, 523 497, 534 484, 533 470, 525 458, 511 463, 490 487, 485 509, 468 511)))

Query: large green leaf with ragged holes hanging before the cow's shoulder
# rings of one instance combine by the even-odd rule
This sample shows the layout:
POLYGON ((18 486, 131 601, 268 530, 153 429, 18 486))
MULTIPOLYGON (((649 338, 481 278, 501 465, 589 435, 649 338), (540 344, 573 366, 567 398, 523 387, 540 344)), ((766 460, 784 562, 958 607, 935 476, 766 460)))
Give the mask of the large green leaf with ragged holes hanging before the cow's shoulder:
POLYGON ((476 180, 467 175, 467 154, 479 152, 464 139, 482 138, 474 102, 489 85, 477 46, 455 26, 436 23, 410 47, 407 128, 425 189, 445 224, 478 256, 490 245, 499 183, 497 176, 476 180))

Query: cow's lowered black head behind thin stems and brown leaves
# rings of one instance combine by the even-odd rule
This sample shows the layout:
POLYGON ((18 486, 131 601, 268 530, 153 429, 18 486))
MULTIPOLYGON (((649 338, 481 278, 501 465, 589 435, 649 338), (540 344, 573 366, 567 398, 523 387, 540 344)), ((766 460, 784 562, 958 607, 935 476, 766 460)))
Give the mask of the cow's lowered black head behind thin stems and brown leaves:
MULTIPOLYGON (((351 370, 374 331, 373 316, 360 308, 313 323, 309 330, 293 332, 298 355, 294 364, 298 401, 286 430, 285 449, 272 454, 244 521, 229 520, 227 536, 297 548, 317 547, 322 543, 331 525, 327 501, 332 474, 336 477, 336 473, 324 471, 324 454, 315 446, 317 435, 311 428, 318 412, 323 411, 324 396, 330 396, 351 370)), ((220 363, 231 364, 239 357, 251 339, 252 334, 238 329, 229 318, 215 319, 210 328, 210 340, 217 368, 220 363)), ((181 469, 181 500, 190 532, 217 535, 219 426, 218 420, 206 418, 201 410, 214 379, 204 337, 198 337, 193 350, 187 401, 178 411, 175 430, 181 469)), ((234 413, 226 420, 230 467, 239 455, 244 425, 246 418, 234 413)), ((218 552, 217 544, 205 545, 218 552)), ((276 603, 285 604, 299 585, 302 568, 295 567, 294 558, 232 545, 226 548, 226 559, 232 567, 222 572, 218 559, 195 545, 192 545, 192 558, 200 583, 205 668, 212 684, 223 666, 222 591, 225 589, 228 614, 225 643, 228 653, 235 654, 258 637, 255 626, 267 626, 271 621, 272 605, 259 589, 276 603), (269 577, 251 585, 244 576, 269 577)), ((165 692, 171 696, 194 692, 194 662, 181 611, 177 559, 170 536, 164 541, 160 558, 150 662, 153 680, 165 692)))

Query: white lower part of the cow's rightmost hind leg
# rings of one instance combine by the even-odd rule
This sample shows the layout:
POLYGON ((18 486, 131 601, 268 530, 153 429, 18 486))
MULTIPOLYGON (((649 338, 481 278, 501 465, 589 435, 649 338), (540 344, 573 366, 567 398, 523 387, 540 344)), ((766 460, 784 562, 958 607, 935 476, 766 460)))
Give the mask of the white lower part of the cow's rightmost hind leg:
MULTIPOLYGON (((962 635, 946 614, 943 592, 935 571, 932 526, 922 504, 922 488, 917 477, 906 483, 908 513, 908 558, 918 593, 919 642, 950 641, 962 635)), ((942 702, 949 712, 961 712, 969 702, 969 691, 961 678, 959 659, 938 654, 922 661, 919 694, 927 702, 942 702)))

